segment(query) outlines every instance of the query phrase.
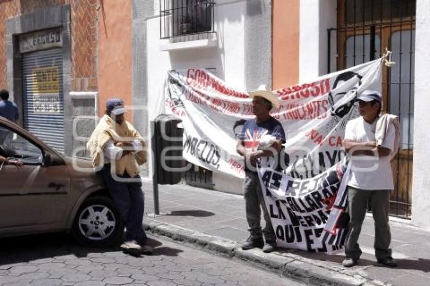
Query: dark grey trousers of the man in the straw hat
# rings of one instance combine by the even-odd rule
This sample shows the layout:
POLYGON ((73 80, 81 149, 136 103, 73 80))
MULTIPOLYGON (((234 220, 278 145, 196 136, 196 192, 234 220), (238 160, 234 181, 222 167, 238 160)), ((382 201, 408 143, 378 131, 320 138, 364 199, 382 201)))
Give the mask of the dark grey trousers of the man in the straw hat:
POLYGON ((263 192, 260 185, 259 176, 256 172, 245 172, 243 181, 243 195, 245 197, 246 220, 248 221, 249 233, 252 239, 260 239, 262 237, 262 228, 260 225, 261 210, 263 209, 266 226, 263 229, 263 234, 266 242, 275 242, 275 232, 272 222, 270 221, 269 213, 267 212, 266 203, 264 202, 263 192))

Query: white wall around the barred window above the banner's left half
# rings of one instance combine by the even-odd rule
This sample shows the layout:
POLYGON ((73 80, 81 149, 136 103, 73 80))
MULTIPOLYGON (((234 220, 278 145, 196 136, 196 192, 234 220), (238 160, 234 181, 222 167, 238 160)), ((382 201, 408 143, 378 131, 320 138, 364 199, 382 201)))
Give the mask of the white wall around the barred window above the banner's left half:
MULTIPOLYGON (((156 0, 158 3, 158 0, 156 0)), ((197 49, 161 51, 160 20, 147 19, 147 67, 149 118, 153 118, 151 107, 160 95, 163 80, 169 69, 191 67, 214 68, 216 76, 228 85, 245 89, 245 1, 217 1, 214 25, 218 46, 197 49)), ((155 9, 158 13, 158 8, 155 9)), ((148 130, 150 130, 148 128, 148 130)), ((149 135, 149 134, 148 134, 149 135)), ((150 138, 150 137, 149 137, 150 138)), ((151 160, 151 158, 149 158, 151 160)), ((149 161, 152 162, 152 161, 149 161)), ((151 166, 151 164, 150 164, 151 166)), ((152 177, 152 166, 149 177, 152 177)), ((212 177, 216 189, 241 193, 241 179, 216 173, 212 177)))

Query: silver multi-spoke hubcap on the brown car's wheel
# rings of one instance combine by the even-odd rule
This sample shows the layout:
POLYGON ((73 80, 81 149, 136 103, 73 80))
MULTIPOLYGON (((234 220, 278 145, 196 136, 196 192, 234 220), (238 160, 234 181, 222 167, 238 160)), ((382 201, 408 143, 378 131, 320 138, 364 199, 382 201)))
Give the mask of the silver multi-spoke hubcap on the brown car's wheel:
POLYGON ((90 240, 103 240, 115 228, 115 216, 106 206, 91 205, 79 215, 79 230, 90 240))

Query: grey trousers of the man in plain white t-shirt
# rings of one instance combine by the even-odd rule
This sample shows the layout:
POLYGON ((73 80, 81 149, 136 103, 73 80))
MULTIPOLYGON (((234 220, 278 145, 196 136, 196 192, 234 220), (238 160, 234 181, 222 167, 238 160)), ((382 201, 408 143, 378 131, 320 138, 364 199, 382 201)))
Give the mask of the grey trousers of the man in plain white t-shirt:
POLYGON ((377 260, 391 256, 391 232, 388 223, 390 211, 390 190, 363 190, 348 186, 348 209, 350 223, 345 243, 345 255, 358 260, 361 249, 357 243, 361 226, 370 199, 373 219, 375 220, 375 255, 377 260))

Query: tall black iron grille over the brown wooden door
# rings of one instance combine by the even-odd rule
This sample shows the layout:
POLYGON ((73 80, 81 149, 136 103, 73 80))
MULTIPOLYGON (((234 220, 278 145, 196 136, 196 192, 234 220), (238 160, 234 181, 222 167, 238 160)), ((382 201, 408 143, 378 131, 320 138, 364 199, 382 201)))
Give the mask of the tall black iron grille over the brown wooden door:
POLYGON ((415 0, 337 0, 337 27, 327 29, 328 73, 393 52, 396 65, 382 69, 382 109, 401 125, 390 214, 403 218, 412 207, 415 13, 415 0))

